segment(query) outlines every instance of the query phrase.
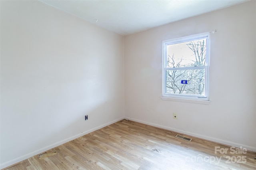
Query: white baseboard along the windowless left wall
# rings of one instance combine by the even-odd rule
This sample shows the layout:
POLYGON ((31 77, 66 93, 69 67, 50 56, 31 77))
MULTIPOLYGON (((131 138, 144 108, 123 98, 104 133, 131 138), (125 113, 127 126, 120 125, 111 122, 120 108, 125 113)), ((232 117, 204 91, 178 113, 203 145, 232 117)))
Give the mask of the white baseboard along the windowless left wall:
POLYGON ((56 143, 54 143, 54 144, 51 144, 51 145, 49 145, 49 146, 46 146, 46 147, 44 147, 44 148, 42 148, 42 149, 36 150, 36 151, 34 151, 34 152, 30 152, 30 153, 28 153, 28 154, 26 154, 26 155, 20 156, 20 157, 18 157, 18 158, 15 158, 15 159, 13 159, 13 160, 8 161, 8 162, 4 162, 4 163, 0 164, 0 169, 6 168, 6 167, 11 166, 11 165, 13 165, 13 164, 16 164, 16 163, 18 163, 18 162, 20 162, 20 161, 22 161, 22 160, 28 159, 28 158, 30 158, 30 157, 32 157, 32 156, 35 156, 35 155, 40 154, 40 153, 42 153, 42 152, 45 152, 45 151, 47 151, 47 150, 49 150, 49 149, 55 148, 56 146, 60 146, 61 144, 64 144, 64 143, 66 143, 66 142, 69 142, 69 141, 74 140, 74 139, 76 139, 76 138, 79 138, 79 137, 81 137, 81 136, 84 136, 85 134, 88 134, 88 133, 93 132, 93 131, 95 131, 95 130, 98 130, 98 129, 100 129, 100 128, 103 128, 103 127, 106 127, 106 126, 111 125, 111 124, 113 124, 113 123, 116 123, 116 122, 118 122, 118 121, 121 121, 122 119, 124 119, 124 118, 122 117, 122 118, 120 118, 120 119, 116 119, 116 120, 111 121, 111 122, 108 122, 108 123, 106 123, 106 124, 104 124, 104 125, 100 125, 100 126, 98 126, 98 127, 92 128, 92 129, 90 129, 90 130, 86 130, 85 132, 76 134, 76 135, 74 135, 74 136, 72 136, 72 137, 70 137, 70 138, 66 138, 66 139, 64 139, 64 140, 61 140, 60 142, 56 142, 56 143))

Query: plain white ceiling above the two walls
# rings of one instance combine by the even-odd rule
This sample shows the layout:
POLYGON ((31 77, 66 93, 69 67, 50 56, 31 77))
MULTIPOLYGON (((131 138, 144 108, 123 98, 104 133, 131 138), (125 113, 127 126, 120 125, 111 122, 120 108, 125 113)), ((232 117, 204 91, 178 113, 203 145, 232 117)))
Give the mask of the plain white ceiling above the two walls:
POLYGON ((121 35, 226 8, 248 0, 40 0, 121 35))

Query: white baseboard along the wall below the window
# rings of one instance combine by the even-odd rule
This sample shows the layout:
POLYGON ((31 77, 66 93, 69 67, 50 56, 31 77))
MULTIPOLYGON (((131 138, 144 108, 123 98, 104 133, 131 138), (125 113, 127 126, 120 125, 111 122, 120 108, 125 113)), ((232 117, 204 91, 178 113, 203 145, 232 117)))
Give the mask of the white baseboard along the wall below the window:
POLYGON ((218 139, 218 138, 212 138, 210 136, 204 136, 204 135, 201 135, 201 134, 196 134, 196 133, 193 133, 193 132, 187 132, 187 131, 179 130, 179 129, 176 129, 176 128, 165 127, 165 126, 158 125, 158 124, 155 124, 155 123, 140 121, 138 119, 132 119, 132 118, 128 118, 128 117, 125 117, 124 119, 128 119, 130 121, 134 121, 134 122, 138 122, 138 123, 143 123, 143 124, 150 125, 150 126, 153 126, 153 127, 158 127, 158 128, 163 128, 163 129, 166 129, 166 130, 171 130, 171 131, 182 133, 182 134, 187 134, 189 136, 194 136, 194 137, 197 137, 197 138, 210 140, 212 142, 217 142, 217 143, 228 145, 228 146, 234 146, 236 148, 240 148, 240 146, 242 146, 242 148, 246 148, 248 151, 256 152, 256 148, 253 147, 253 146, 248 146, 248 145, 235 143, 235 142, 231 142, 231 141, 228 141, 228 140, 222 140, 222 139, 218 139))

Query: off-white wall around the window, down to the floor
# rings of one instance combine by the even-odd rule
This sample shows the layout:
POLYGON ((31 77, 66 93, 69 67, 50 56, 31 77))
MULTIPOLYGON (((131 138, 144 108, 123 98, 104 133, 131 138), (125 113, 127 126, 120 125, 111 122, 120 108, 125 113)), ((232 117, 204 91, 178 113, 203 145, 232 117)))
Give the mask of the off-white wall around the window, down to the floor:
POLYGON ((125 36, 125 117, 256 151, 255 30, 256 1, 251 1, 125 36), (162 41, 213 30, 211 103, 163 101, 162 41))

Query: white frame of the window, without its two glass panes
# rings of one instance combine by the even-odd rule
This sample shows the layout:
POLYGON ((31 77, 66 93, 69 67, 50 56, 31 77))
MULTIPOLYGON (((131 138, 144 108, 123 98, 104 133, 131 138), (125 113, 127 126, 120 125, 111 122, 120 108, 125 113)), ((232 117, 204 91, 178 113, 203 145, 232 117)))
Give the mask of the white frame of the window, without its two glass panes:
POLYGON ((170 99, 192 99, 198 101, 209 101, 209 67, 210 67, 210 32, 195 34, 192 36, 186 36, 182 38, 175 38, 170 40, 163 41, 163 55, 162 55, 162 98, 170 98, 170 99), (166 93, 166 71, 173 70, 174 68, 167 67, 167 46, 172 44, 190 42, 194 40, 200 40, 206 38, 206 65, 205 66, 197 66, 194 67, 175 67, 177 69, 205 69, 205 87, 204 87, 204 96, 197 95, 186 95, 186 94, 170 94, 166 93))

